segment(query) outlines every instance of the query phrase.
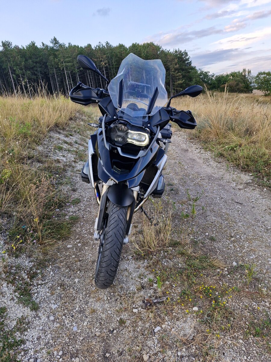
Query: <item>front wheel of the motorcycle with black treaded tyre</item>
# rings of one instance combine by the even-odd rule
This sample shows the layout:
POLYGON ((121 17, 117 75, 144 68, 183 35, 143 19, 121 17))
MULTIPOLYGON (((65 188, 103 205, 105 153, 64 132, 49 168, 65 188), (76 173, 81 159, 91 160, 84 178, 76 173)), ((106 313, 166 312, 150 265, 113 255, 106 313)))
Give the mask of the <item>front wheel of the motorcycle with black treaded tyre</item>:
POLYGON ((127 206, 118 206, 110 201, 95 270, 95 284, 100 289, 110 287, 115 279, 126 232, 126 218, 127 206))

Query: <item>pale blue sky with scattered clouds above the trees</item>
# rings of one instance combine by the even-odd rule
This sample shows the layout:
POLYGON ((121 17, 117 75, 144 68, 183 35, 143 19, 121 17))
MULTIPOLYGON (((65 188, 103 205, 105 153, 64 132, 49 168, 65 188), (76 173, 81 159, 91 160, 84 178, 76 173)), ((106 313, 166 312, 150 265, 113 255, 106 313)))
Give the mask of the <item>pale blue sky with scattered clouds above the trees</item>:
POLYGON ((0 42, 92 46, 152 41, 197 68, 271 70, 271 0, 0 0, 0 42))

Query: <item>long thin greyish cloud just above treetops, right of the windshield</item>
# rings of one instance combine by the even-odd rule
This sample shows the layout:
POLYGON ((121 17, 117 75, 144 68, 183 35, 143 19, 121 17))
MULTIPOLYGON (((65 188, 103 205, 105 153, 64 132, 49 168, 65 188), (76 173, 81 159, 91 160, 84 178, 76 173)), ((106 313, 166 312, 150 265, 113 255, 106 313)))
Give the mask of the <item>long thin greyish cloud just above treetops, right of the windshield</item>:
POLYGON ((180 31, 174 30, 172 33, 159 33, 148 37, 146 41, 153 41, 158 43, 161 46, 174 47, 178 44, 184 44, 194 39, 208 37, 213 34, 221 34, 223 30, 216 29, 214 26, 201 30, 192 30, 192 31, 180 31))

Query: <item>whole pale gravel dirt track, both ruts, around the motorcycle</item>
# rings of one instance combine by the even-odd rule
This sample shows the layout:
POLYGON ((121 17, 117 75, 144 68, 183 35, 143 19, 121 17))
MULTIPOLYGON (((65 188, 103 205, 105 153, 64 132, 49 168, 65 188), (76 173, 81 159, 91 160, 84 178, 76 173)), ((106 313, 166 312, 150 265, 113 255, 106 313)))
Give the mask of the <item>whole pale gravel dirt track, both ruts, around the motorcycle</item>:
MULTIPOLYGON (((64 137, 63 133, 61 139, 64 137)), ((85 140, 78 136, 78 147, 86 152, 85 140)), ((33 297, 39 310, 31 312, 21 304, 10 309, 14 304, 12 287, 5 281, 1 283, 0 298, 8 307, 10 325, 21 315, 28 322, 21 361, 267 362, 262 342, 253 336, 244 340, 240 331, 231 333, 231 341, 229 337, 221 340, 223 343, 219 340, 215 349, 213 346, 214 358, 205 359, 207 354, 189 343, 199 338, 195 337, 198 322, 192 307, 191 312, 172 306, 144 310, 142 299, 158 294, 156 284, 149 282, 149 278, 155 280, 156 270, 150 267, 151 258, 134 256, 132 245, 124 247, 115 285, 108 290, 96 289, 93 276, 98 243, 93 240, 93 232, 98 206, 91 186, 80 180, 80 169, 81 164, 71 169, 72 180, 67 187, 72 198, 81 201, 69 206, 69 214, 80 219, 72 236, 55 251, 44 275, 33 281, 33 297), (160 330, 154 332, 156 327, 160 330)), ((173 135, 164 174, 177 209, 175 227, 188 231, 190 243, 198 251, 217 256, 229 265, 222 271, 218 269, 226 281, 232 278, 228 271, 233 262, 237 268, 240 263, 254 263, 258 288, 267 289, 271 264, 270 192, 250 182, 248 174, 228 168, 220 159, 214 160, 182 132, 173 135), (181 217, 191 213, 197 194, 202 196, 194 202, 195 217, 181 217)), ((173 249, 159 253, 159 257, 168 266, 182 264, 173 249)), ((23 257, 18 262, 26 264, 23 257)), ((27 261, 29 265, 33 262, 27 261)), ((170 282, 170 286, 173 295, 182 291, 182 285, 170 282)), ((258 308, 266 313, 269 304, 267 296, 262 296, 258 308)))

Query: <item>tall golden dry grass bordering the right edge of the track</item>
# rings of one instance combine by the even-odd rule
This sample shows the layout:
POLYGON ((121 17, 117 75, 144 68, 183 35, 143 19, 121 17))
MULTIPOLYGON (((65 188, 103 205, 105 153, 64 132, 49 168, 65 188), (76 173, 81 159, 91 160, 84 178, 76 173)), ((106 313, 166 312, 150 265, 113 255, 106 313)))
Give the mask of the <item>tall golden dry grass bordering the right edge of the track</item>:
POLYGON ((253 94, 207 92, 172 104, 192 110, 193 135, 247 171, 271 179, 271 100, 253 94))

